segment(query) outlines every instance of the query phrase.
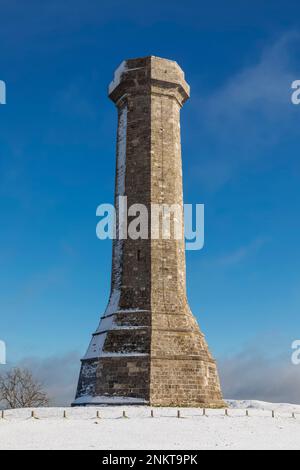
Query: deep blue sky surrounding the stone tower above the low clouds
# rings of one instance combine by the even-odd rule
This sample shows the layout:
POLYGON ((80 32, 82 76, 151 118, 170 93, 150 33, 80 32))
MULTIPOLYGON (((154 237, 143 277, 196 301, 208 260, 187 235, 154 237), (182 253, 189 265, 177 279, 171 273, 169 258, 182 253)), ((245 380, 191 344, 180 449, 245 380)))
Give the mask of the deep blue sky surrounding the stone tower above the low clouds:
POLYGON ((185 201, 206 205, 205 249, 187 253, 192 310, 220 361, 254 349, 289 363, 300 5, 261 3, 0 0, 0 339, 11 363, 82 355, 104 311, 111 246, 95 212, 113 201, 107 85, 123 59, 150 54, 176 60, 191 85, 185 201))

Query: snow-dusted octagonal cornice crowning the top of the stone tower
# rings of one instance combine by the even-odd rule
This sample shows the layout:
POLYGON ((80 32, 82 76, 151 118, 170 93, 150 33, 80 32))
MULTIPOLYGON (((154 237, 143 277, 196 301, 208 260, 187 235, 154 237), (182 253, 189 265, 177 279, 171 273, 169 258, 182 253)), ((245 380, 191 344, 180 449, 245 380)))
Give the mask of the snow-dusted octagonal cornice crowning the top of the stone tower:
POLYGON ((177 62, 155 56, 124 60, 114 73, 108 95, 117 103, 124 95, 151 93, 151 86, 176 88, 182 104, 190 96, 190 87, 177 62))

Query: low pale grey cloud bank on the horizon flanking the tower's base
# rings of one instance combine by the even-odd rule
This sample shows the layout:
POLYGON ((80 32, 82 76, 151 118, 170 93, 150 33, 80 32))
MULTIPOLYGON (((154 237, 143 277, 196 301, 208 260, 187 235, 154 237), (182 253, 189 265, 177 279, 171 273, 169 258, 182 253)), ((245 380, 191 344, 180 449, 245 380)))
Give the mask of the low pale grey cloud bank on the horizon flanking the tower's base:
MULTIPOLYGON (((300 366, 291 362, 293 350, 288 341, 284 354, 272 355, 278 349, 278 341, 276 337, 261 338, 242 352, 218 361, 226 398, 300 404, 300 366)), ((14 365, 33 371, 49 393, 51 405, 68 406, 73 401, 80 369, 79 353, 28 357, 14 365)))

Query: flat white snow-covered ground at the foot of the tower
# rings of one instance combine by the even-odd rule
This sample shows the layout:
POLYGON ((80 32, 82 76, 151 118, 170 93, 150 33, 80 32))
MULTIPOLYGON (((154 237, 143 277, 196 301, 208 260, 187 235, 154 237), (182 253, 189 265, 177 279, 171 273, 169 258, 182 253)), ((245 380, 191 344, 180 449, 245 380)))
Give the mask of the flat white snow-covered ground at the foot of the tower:
POLYGON ((224 410, 203 416, 188 408, 181 419, 175 408, 155 408, 151 418, 144 406, 66 408, 67 419, 63 408, 37 409, 39 419, 30 418, 31 410, 12 410, 0 419, 0 449, 300 449, 300 406, 229 404, 228 417, 224 410))

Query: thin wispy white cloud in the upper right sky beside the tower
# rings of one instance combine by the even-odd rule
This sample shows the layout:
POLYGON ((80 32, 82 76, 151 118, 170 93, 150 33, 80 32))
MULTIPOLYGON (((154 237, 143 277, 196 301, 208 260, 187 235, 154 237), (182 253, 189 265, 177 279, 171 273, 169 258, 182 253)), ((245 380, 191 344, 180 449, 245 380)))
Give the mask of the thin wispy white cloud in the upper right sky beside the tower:
POLYGON ((194 97, 191 105, 204 142, 199 151, 205 158, 192 173, 208 189, 222 187, 247 166, 267 162, 272 149, 297 132, 291 84, 298 78, 299 49, 300 34, 287 33, 222 87, 200 100, 194 97))

